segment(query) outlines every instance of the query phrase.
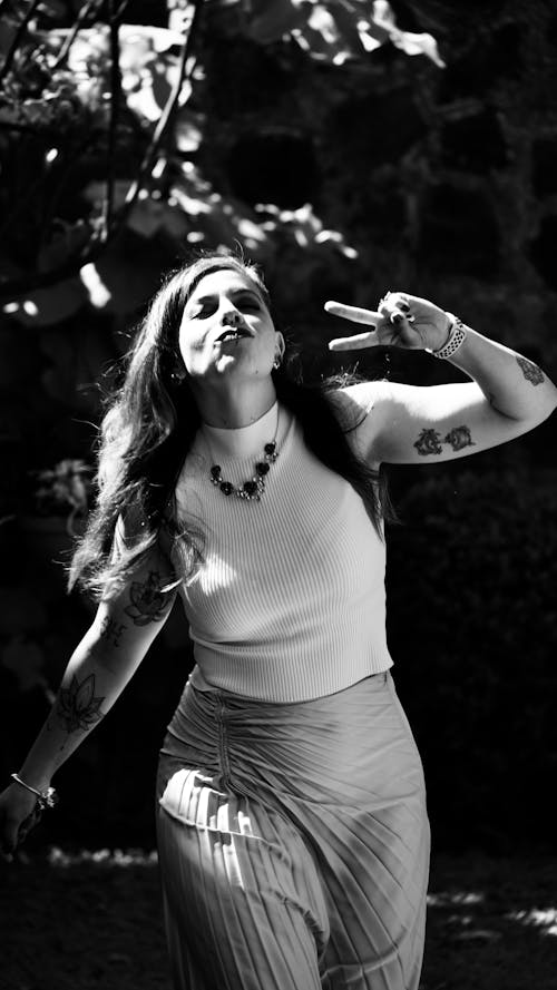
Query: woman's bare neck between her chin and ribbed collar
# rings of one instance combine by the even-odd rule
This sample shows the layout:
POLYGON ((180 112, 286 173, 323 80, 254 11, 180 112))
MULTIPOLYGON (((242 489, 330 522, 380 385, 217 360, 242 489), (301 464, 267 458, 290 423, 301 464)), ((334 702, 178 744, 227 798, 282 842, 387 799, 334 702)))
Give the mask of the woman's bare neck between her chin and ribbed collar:
POLYGON ((194 388, 202 421, 208 427, 237 430, 261 420, 276 402, 273 380, 251 385, 250 389, 208 390, 194 388))

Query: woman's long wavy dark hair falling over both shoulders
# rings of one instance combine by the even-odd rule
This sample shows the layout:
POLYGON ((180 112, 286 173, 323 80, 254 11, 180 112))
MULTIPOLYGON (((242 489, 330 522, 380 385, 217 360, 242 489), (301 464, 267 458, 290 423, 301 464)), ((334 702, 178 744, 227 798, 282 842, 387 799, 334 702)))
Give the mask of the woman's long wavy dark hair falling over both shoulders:
MULTIPOLYGON (((226 269, 252 280, 277 327, 263 278, 243 258, 205 252, 166 277, 124 359, 123 383, 106 402, 97 445, 96 503, 68 568, 69 590, 79 586, 97 599, 111 598, 156 545, 164 546, 173 561, 177 558, 167 590, 190 579, 203 561, 202 528, 178 518, 175 500, 180 469, 202 424, 188 378, 177 374, 184 370, 178 331, 199 281, 226 269), (118 552, 114 552, 115 533, 118 552)), ((283 363, 272 371, 277 399, 297 418, 310 450, 362 497, 382 535, 383 519, 394 518, 383 472, 354 455, 346 433, 358 423, 341 424, 328 398, 348 376, 304 384, 294 371, 295 353, 287 336, 283 363)))

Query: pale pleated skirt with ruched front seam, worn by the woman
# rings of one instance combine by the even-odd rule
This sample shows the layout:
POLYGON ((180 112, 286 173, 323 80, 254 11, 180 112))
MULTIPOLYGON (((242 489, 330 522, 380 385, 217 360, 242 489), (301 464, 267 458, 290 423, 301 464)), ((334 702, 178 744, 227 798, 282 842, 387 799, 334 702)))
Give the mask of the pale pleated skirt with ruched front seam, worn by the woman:
POLYGON ((175 990, 418 990, 430 833, 390 673, 294 704, 188 682, 157 813, 175 990))

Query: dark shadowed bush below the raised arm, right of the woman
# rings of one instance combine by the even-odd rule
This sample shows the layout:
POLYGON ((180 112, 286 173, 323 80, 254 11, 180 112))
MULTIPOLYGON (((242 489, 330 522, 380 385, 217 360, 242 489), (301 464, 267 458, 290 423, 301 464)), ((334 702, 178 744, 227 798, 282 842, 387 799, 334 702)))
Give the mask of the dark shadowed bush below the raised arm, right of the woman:
POLYGON ((439 842, 549 841, 557 472, 440 476, 389 541, 389 644, 439 842))

